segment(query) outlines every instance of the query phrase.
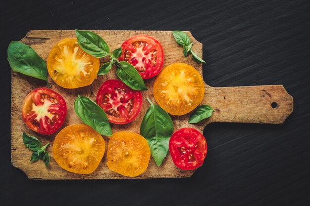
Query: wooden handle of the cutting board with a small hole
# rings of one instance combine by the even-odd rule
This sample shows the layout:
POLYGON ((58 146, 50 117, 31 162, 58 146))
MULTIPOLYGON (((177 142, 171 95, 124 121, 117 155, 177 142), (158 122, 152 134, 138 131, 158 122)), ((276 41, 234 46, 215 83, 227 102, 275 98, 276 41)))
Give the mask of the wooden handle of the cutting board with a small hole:
POLYGON ((293 112, 293 97, 283 85, 206 86, 202 104, 214 110, 209 123, 282 124, 293 112))

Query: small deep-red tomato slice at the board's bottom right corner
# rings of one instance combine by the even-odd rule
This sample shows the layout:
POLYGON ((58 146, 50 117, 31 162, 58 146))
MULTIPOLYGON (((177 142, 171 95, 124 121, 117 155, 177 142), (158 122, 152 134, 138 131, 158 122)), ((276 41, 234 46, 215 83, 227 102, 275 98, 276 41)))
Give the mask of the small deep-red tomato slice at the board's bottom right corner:
POLYGON ((207 155, 207 141, 197 129, 181 128, 169 141, 169 150, 174 164, 190 170, 201 166, 207 155))

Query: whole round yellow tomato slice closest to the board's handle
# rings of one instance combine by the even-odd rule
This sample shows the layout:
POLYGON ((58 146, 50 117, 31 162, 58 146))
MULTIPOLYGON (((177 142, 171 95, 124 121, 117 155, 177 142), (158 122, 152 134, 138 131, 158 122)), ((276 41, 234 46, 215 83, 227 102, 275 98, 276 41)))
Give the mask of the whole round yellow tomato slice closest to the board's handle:
POLYGON ((203 100, 205 85, 198 71, 183 63, 166 66, 154 81, 157 104, 171 115, 185 115, 203 100))

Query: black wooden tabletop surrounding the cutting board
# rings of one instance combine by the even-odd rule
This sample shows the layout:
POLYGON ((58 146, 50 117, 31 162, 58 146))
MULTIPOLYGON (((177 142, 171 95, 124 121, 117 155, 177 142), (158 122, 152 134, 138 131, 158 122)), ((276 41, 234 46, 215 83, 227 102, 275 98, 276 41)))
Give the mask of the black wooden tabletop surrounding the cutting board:
POLYGON ((5 0, 0 5, 0 205, 309 206, 309 0, 5 0), (34 29, 188 30, 211 86, 283 84, 282 125, 209 124, 191 178, 34 181, 10 163, 8 43, 34 29))

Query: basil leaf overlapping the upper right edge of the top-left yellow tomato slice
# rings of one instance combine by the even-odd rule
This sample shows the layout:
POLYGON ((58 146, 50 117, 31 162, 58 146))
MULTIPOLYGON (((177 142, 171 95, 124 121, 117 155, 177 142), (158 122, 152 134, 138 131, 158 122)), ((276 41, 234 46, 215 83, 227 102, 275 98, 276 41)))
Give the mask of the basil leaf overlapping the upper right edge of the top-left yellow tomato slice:
POLYGON ((107 43, 97 34, 90 31, 75 30, 79 46, 88 54, 101 58, 109 55, 110 48, 107 43))

